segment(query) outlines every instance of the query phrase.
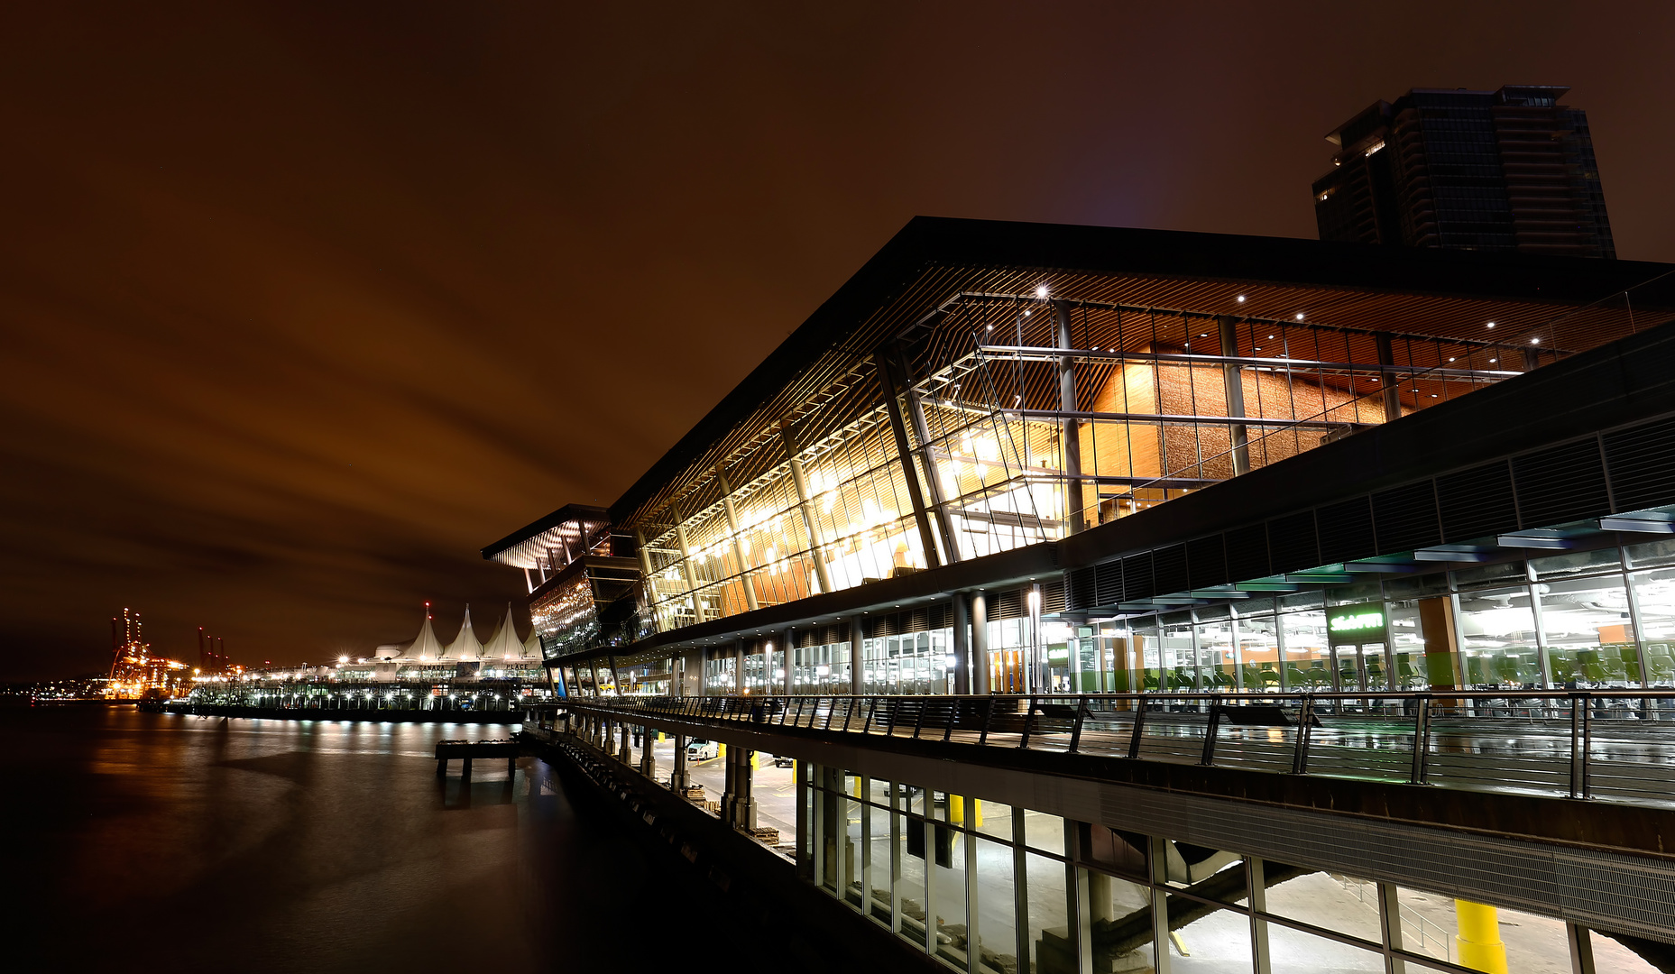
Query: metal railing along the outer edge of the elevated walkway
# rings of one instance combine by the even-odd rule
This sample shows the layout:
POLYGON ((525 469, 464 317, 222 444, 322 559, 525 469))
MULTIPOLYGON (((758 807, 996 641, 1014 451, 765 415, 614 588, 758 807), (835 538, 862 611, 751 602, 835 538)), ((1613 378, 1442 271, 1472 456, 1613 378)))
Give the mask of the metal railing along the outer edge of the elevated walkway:
POLYGON ((1675 689, 628 696, 559 708, 1675 803, 1675 689))

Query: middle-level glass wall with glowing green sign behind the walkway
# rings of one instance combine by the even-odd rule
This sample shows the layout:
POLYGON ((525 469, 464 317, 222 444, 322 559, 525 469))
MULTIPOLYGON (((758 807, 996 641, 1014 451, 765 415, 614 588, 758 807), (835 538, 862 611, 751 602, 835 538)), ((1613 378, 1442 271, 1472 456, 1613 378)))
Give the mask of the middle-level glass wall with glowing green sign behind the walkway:
POLYGON ((1136 671, 1161 693, 1675 688, 1675 541, 1095 626, 1117 693, 1136 671), (1332 606, 1362 602, 1384 629, 1333 636, 1332 606))

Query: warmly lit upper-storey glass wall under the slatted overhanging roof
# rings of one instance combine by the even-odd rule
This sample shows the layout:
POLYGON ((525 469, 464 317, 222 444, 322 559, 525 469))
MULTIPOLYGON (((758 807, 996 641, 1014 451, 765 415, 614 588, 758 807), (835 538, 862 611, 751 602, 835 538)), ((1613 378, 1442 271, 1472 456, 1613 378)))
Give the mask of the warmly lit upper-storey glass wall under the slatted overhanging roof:
MULTIPOLYGON (((1394 402, 1412 412, 1513 375, 1497 348, 956 295, 878 356, 822 361, 827 378, 776 392, 628 519, 643 611, 667 633, 1054 541, 1072 519, 1122 517, 1384 422, 1385 383, 1400 380, 1394 402)), ((1209 686, 1238 684, 1219 656, 1238 646, 1214 653, 1209 686)), ((1069 641, 1064 654, 1062 673, 1038 663, 1069 688, 1080 669, 1069 641)))

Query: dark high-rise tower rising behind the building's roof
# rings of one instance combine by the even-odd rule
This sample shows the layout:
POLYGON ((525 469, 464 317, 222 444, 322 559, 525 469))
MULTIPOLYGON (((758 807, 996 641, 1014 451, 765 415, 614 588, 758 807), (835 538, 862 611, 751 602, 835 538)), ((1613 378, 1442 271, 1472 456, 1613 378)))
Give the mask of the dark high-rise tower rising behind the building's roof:
POLYGON ((1320 239, 1615 258, 1588 114, 1568 87, 1414 89, 1338 126, 1320 239))

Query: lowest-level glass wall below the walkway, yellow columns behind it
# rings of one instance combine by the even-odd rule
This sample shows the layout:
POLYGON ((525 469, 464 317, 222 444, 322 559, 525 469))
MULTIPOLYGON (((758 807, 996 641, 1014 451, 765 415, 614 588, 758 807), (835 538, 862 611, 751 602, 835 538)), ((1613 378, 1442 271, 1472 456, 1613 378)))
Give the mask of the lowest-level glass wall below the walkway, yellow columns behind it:
MULTIPOLYGON (((953 971, 1571 969, 1558 907, 1528 914, 817 765, 799 765, 797 787, 816 885, 953 971)), ((1591 957, 1652 971, 1606 937, 1591 957)))

